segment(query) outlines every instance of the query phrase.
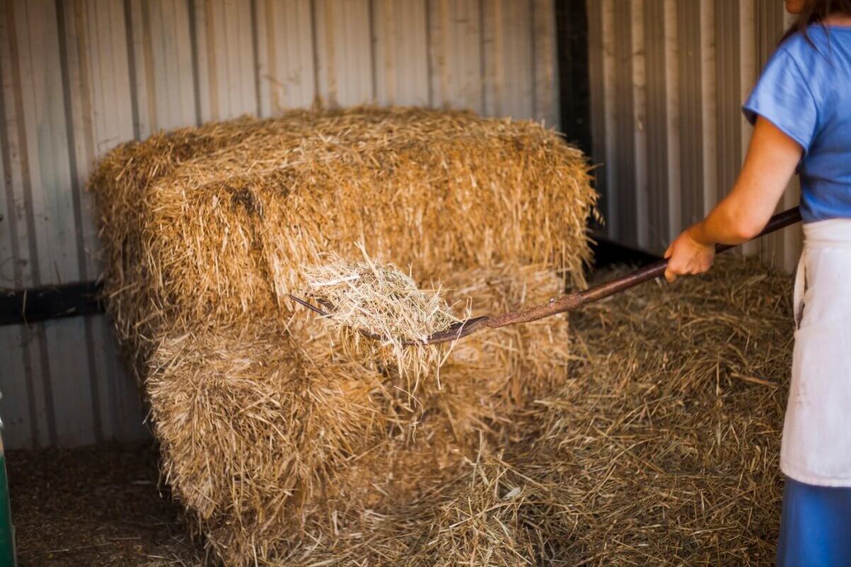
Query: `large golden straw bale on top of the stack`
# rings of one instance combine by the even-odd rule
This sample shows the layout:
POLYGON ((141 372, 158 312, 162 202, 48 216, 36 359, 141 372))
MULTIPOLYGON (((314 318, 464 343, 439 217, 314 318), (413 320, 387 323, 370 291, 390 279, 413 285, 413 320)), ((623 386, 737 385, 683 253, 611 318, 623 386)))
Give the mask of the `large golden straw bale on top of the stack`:
POLYGON ((355 241, 423 275, 545 263, 580 285, 595 201, 584 156, 556 133, 416 109, 158 135, 113 152, 92 187, 111 314, 137 351, 163 320, 287 310, 299 266, 355 241))

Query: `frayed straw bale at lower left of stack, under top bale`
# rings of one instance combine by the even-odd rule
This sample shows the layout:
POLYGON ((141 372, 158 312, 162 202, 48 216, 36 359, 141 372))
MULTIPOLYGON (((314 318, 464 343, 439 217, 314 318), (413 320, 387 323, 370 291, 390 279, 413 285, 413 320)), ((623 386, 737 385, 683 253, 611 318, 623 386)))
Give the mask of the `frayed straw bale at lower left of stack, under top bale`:
POLYGON ((389 427, 380 375, 280 325, 164 337, 150 364, 163 477, 226 564, 296 541, 347 459, 389 427))

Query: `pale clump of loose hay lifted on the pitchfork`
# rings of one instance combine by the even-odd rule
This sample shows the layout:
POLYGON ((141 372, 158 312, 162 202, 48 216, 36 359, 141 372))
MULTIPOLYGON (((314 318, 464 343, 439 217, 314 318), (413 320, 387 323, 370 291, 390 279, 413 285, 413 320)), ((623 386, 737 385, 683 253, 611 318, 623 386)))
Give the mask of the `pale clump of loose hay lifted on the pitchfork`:
POLYGON ((448 345, 416 344, 463 319, 454 315, 437 289, 420 289, 411 275, 394 264, 370 258, 363 246, 359 261, 336 254, 322 264, 306 266, 304 295, 328 310, 325 325, 333 327, 347 352, 395 367, 415 394, 421 378, 440 380, 448 345), (410 344, 414 343, 414 344, 410 344))

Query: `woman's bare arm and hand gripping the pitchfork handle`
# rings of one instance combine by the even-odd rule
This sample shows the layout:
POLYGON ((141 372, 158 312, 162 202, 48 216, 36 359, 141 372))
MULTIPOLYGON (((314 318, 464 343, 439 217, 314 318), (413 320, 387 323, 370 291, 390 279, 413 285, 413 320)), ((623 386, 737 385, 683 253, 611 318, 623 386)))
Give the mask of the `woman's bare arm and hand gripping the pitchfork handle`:
POLYGON ((733 190, 706 218, 671 243, 665 251, 665 279, 701 274, 711 268, 716 244, 741 244, 758 235, 774 213, 802 153, 795 140, 757 116, 745 164, 733 190))

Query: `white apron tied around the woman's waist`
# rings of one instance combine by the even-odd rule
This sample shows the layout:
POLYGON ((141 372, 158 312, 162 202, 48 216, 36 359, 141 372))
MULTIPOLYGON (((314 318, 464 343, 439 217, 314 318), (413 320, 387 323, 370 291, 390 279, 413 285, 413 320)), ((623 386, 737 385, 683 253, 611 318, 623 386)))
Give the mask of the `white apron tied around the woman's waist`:
POLYGON ((809 485, 851 486, 851 219, 803 233, 780 468, 809 485))

